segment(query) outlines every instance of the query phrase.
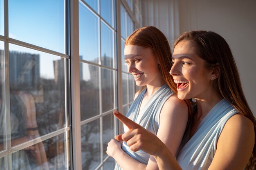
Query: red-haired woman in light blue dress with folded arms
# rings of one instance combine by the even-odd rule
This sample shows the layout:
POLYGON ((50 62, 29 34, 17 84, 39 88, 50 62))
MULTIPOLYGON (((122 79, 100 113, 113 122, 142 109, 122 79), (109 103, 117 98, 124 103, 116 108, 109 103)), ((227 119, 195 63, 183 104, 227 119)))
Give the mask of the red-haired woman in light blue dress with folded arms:
MULTIPOLYGON (((173 91, 176 84, 171 69, 171 49, 164 34, 153 26, 134 31, 125 43, 128 72, 137 86, 144 87, 135 94, 127 117, 157 135, 168 150, 176 154, 188 120, 186 102, 173 91), (171 88, 173 88, 173 91, 171 88)), ((124 130, 128 131, 126 126, 124 130)), ((132 152, 129 144, 116 139, 108 143, 107 154, 116 161, 115 170, 158 170, 155 159, 146 152, 132 152)))

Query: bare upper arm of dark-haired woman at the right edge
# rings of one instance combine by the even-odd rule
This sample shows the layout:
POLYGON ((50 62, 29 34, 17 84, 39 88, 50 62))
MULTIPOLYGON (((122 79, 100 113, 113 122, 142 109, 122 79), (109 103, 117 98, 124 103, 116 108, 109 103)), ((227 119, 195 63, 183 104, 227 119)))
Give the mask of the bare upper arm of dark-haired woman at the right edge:
POLYGON ((243 170, 252 155, 253 147, 252 121, 240 114, 232 116, 220 134, 209 170, 243 170))

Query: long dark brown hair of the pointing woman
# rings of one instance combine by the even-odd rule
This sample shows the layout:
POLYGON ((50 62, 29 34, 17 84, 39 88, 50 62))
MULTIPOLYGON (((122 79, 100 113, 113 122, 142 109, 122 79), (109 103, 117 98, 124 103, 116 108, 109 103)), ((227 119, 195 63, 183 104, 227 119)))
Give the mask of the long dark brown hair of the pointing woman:
MULTIPOLYGON (((225 39, 211 31, 189 31, 179 36, 173 44, 173 49, 182 40, 189 41, 191 50, 205 60, 208 68, 212 68, 218 63, 220 66, 218 88, 221 95, 230 102, 241 115, 244 115, 252 121, 255 133, 256 119, 245 99, 236 63, 225 39)), ((256 138, 254 140, 256 141, 256 138)), ((255 168, 255 155, 256 147, 254 145, 252 157, 247 163, 246 170, 252 170, 253 167, 255 168)))

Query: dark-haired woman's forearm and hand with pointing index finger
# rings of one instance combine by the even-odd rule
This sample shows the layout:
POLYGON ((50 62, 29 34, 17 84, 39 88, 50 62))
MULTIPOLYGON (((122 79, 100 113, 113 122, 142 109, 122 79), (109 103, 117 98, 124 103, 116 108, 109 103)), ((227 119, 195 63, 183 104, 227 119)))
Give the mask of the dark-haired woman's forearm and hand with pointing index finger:
POLYGON ((115 136, 118 141, 126 141, 133 152, 143 150, 152 155, 157 161, 159 170, 181 170, 171 151, 156 135, 116 110, 114 115, 130 129, 123 135, 115 136))

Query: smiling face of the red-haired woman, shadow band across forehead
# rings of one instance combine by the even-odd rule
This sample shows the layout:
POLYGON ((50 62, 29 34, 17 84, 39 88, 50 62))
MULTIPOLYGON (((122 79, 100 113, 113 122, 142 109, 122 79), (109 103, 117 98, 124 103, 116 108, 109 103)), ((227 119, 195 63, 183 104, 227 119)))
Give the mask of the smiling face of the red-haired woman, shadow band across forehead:
POLYGON ((162 83, 158 62, 152 49, 126 45, 124 58, 128 64, 128 72, 133 75, 137 86, 159 86, 162 83))

